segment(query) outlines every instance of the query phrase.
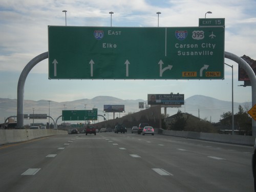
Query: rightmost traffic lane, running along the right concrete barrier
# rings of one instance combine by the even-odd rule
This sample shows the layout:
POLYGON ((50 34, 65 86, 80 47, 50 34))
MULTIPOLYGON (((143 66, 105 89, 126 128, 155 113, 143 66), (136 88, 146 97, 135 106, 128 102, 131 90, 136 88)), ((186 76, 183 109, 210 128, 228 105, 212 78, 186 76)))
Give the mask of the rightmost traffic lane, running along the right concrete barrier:
MULTIPOLYGON (((126 137, 130 138, 131 136, 126 135, 126 137)), ((208 155, 210 157, 220 156, 219 158, 225 159, 225 158, 229 158, 229 156, 232 156, 229 158, 230 160, 235 161, 237 163, 241 163, 241 164, 247 163, 247 165, 250 165, 250 162, 248 162, 247 160, 251 158, 252 151, 253 151, 253 147, 251 146, 232 145, 227 143, 191 140, 191 139, 169 137, 169 136, 165 137, 161 135, 155 135, 154 137, 137 136, 137 137, 131 137, 131 138, 133 139, 130 142, 131 147, 133 147, 134 143, 136 142, 139 142, 138 143, 139 145, 146 145, 146 143, 154 142, 155 144, 158 144, 160 146, 173 147, 176 150, 180 150, 180 151, 191 151, 191 152, 194 151, 194 153, 198 153, 198 154, 202 153, 202 155, 208 155)), ((124 139, 122 140, 125 141, 124 139)), ((138 148, 138 150, 140 148, 138 148)))

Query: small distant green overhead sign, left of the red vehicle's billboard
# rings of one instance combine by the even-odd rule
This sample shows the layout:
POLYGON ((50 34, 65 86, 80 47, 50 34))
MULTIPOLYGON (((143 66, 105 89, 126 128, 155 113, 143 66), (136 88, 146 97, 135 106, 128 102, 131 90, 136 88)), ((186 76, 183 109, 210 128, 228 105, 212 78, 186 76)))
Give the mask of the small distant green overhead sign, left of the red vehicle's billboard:
POLYGON ((97 110, 63 110, 62 121, 97 120, 97 110))

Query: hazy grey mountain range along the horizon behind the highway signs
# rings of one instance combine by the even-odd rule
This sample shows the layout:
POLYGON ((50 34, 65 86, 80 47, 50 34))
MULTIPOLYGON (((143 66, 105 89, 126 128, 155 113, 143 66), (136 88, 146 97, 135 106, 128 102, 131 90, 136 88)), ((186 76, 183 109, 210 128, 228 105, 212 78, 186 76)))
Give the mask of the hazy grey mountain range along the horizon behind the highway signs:
MULTIPOLYGON (((184 100, 185 104, 181 108, 167 108, 167 115, 171 116, 178 112, 178 110, 192 114, 201 119, 208 120, 210 122, 219 122, 221 115, 226 112, 232 111, 232 102, 223 101, 215 99, 212 97, 207 97, 203 95, 194 95, 188 97, 184 100)), ((93 108, 98 109, 98 115, 104 115, 106 119, 113 119, 113 113, 103 112, 103 106, 105 104, 120 104, 124 105, 124 113, 115 113, 116 117, 122 117, 128 113, 135 113, 140 110, 139 102, 144 102, 144 109, 147 107, 147 101, 142 99, 136 100, 123 100, 116 97, 110 96, 97 96, 93 99, 80 99, 75 101, 66 102, 55 102, 48 100, 24 100, 24 114, 49 114, 54 119, 62 114, 62 110, 91 110, 93 108)), ((241 105, 244 110, 249 110, 251 108, 251 103, 233 103, 234 114, 238 112, 239 105, 241 105), (248 109, 247 109, 248 108, 248 109)), ((17 99, 6 99, 0 98, 0 123, 4 123, 5 119, 10 116, 16 116, 17 113, 17 99)), ((162 109, 162 114, 164 110, 162 109)), ((102 121, 103 117, 99 117, 99 121, 102 121)), ((35 119, 35 122, 48 122, 48 119, 35 119)), ((24 120, 25 124, 31 123, 32 120, 24 120)), ((58 123, 60 123, 59 121, 58 123)), ((77 123, 77 122, 73 122, 77 123)))

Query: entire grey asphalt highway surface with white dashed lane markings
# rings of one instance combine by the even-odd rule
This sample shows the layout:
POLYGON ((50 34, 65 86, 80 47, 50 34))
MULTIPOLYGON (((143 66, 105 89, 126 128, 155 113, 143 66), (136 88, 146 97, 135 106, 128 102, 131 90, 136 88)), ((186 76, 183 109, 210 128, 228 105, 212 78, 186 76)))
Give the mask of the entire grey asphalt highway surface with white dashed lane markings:
POLYGON ((0 191, 253 191, 251 146, 136 133, 0 146, 0 191))

